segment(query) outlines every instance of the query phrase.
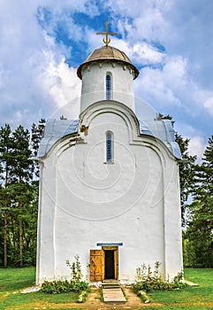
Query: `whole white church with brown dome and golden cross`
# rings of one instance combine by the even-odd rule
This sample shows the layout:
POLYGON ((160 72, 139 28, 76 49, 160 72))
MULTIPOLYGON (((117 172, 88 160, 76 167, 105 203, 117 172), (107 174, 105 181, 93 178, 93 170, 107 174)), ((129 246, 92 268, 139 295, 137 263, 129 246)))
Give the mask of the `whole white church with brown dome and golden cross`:
POLYGON ((137 118, 139 71, 105 35, 77 71, 79 119, 48 120, 40 145, 37 284, 70 278, 76 255, 91 283, 133 282, 156 261, 166 279, 183 269, 174 129, 145 104, 137 118))

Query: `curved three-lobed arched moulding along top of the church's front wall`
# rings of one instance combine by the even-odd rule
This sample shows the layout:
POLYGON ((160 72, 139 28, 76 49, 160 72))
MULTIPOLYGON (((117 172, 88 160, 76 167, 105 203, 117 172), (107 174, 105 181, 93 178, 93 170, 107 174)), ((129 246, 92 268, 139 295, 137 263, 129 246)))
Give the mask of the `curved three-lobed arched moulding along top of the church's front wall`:
POLYGON ((89 105, 87 109, 80 113, 79 133, 59 138, 57 142, 52 145, 51 149, 46 154, 46 157, 49 157, 52 152, 55 153, 56 149, 58 156, 67 148, 75 145, 78 139, 82 138, 82 141, 87 143, 87 136, 84 136, 83 134, 82 137, 82 128, 87 128, 89 135, 89 126, 92 120, 94 120, 98 115, 107 112, 116 113, 125 121, 128 128, 128 139, 130 144, 143 145, 151 148, 153 151, 156 151, 158 156, 161 158, 163 165, 165 163, 166 154, 172 160, 177 160, 172 152, 168 149, 168 147, 164 144, 164 142, 159 138, 156 136, 141 134, 139 120, 137 119, 134 112, 128 106, 115 100, 102 100, 89 105))

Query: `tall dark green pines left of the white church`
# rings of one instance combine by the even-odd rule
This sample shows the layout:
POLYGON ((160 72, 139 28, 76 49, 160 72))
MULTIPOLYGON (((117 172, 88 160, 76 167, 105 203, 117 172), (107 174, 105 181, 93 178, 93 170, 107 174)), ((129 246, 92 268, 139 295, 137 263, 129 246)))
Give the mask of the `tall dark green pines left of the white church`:
POLYGON ((8 124, 0 128, 0 264, 35 264, 38 205, 36 155, 45 121, 32 132, 8 124))

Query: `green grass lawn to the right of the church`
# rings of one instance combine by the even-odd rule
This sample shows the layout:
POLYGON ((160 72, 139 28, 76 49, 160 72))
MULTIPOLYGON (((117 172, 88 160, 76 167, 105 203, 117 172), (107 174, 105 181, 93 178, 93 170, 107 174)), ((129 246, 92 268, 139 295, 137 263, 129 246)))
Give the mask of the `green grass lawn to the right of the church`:
POLYGON ((151 309, 213 309, 213 269, 186 268, 185 279, 199 286, 179 291, 153 291, 148 294, 151 301, 163 306, 151 309))

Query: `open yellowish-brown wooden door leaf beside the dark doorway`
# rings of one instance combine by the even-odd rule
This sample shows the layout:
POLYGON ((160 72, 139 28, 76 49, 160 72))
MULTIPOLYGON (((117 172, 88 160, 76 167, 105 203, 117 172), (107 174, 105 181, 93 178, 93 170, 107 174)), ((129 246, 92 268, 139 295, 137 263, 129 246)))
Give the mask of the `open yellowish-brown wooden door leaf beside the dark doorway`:
POLYGON ((103 250, 90 250, 90 281, 103 281, 103 250))

